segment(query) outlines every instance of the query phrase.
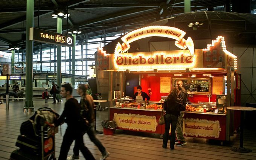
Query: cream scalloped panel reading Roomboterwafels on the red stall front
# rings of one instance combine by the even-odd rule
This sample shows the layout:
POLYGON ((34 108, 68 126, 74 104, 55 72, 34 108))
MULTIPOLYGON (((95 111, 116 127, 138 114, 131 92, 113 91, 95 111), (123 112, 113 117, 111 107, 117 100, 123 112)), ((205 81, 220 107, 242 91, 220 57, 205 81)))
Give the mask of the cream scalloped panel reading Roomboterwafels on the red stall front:
POLYGON ((183 119, 183 132, 187 136, 219 138, 221 131, 218 120, 207 119, 183 119))

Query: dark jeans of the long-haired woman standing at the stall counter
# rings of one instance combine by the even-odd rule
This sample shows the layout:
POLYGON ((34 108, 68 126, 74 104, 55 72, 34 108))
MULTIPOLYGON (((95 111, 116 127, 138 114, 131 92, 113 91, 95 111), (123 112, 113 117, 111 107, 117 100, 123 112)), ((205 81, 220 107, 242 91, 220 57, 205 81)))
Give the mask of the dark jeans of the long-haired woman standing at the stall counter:
POLYGON ((178 116, 174 116, 172 114, 165 114, 165 134, 163 135, 163 147, 166 148, 169 137, 170 125, 171 127, 171 140, 170 140, 170 148, 174 147, 175 144, 175 130, 177 126, 178 116))

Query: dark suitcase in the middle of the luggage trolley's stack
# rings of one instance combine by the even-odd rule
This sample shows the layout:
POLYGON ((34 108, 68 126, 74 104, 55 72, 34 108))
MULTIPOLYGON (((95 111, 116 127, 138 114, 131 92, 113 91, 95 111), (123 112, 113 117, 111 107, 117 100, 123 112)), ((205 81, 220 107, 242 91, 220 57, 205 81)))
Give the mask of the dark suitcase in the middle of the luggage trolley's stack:
POLYGON ((29 151, 30 154, 41 154, 41 137, 30 138, 25 135, 19 135, 15 144, 22 151, 29 151))

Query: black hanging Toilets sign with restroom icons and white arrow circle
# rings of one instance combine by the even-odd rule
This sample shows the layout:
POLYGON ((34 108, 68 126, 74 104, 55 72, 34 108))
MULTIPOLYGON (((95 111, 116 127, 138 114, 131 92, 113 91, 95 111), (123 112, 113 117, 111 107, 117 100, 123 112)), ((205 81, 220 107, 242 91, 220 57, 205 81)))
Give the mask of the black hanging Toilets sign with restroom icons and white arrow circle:
POLYGON ((38 28, 29 29, 29 40, 39 41, 43 43, 51 43, 67 47, 74 46, 74 38, 72 35, 59 34, 38 28))

